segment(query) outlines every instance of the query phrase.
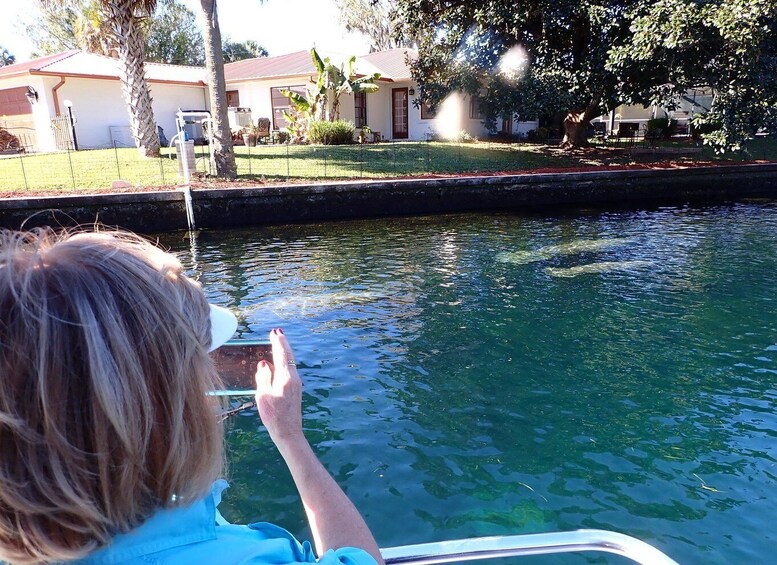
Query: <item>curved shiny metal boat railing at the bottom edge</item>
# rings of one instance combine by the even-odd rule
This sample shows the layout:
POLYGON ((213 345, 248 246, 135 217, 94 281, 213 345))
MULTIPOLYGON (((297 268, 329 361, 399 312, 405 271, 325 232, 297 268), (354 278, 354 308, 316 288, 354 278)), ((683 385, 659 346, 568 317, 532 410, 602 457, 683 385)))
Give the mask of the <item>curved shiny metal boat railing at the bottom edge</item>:
POLYGON ((381 549, 387 565, 458 563, 476 559, 522 557, 598 551, 613 553, 641 565, 677 565, 641 540, 606 530, 575 530, 516 536, 470 538, 381 549))

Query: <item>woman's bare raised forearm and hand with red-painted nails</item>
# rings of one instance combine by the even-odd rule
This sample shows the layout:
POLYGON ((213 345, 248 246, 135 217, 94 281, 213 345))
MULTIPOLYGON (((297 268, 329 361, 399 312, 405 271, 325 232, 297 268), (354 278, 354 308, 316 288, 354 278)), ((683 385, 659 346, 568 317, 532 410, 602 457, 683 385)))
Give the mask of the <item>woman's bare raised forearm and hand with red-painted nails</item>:
POLYGON ((379 564, 383 558, 359 511, 313 453, 302 432, 302 381, 283 330, 270 332, 275 367, 256 372, 256 402, 270 438, 297 485, 319 556, 328 549, 358 547, 379 564), (290 364, 289 362, 292 362, 290 364))

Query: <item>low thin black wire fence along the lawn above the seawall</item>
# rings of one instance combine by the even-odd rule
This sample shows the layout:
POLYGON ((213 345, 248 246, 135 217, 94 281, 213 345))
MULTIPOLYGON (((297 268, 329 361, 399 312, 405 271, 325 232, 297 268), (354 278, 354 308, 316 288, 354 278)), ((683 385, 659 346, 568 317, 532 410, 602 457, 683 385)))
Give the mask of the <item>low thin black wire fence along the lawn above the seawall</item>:
MULTIPOLYGON (((32 153, 21 147, 0 155, 0 190, 80 190, 127 185, 169 187, 184 182, 176 149, 154 158, 135 148, 64 149, 32 153)), ((71 138, 72 141, 72 138, 71 138)), ((341 146, 268 144, 236 146, 238 178, 250 182, 364 179, 514 171, 551 166, 554 159, 497 142, 381 142, 341 146)), ((215 175, 207 145, 194 147, 193 178, 215 175)))

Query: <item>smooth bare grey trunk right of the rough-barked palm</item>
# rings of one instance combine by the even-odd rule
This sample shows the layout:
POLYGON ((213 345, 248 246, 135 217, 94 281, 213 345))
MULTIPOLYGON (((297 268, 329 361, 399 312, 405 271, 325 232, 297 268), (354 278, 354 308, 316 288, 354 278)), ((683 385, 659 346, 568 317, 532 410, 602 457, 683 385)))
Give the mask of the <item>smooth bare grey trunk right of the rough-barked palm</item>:
POLYGON ((205 17, 205 65, 208 69, 210 112, 213 117, 213 155, 216 175, 233 179, 237 176, 232 132, 227 116, 227 83, 224 79, 224 54, 221 51, 216 0, 200 0, 205 17))

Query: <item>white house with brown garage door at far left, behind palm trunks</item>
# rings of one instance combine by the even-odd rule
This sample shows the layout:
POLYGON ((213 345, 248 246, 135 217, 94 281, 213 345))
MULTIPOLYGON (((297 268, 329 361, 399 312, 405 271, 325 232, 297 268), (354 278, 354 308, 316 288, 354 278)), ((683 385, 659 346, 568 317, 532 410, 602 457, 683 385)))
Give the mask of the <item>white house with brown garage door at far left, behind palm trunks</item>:
MULTIPOLYGON (((207 105, 203 68, 147 63, 146 79, 154 117, 168 137, 179 107, 207 105)), ((0 67, 0 127, 23 145, 63 149, 57 117, 71 113, 80 147, 134 147, 117 59, 74 50, 0 67)))

